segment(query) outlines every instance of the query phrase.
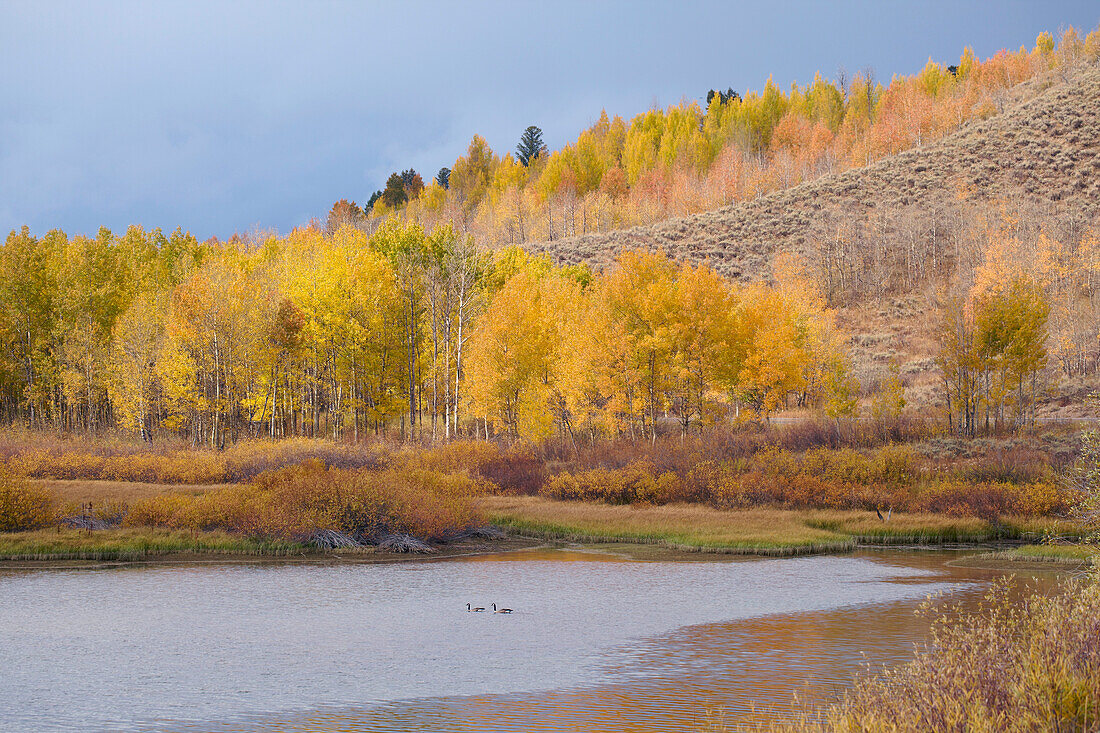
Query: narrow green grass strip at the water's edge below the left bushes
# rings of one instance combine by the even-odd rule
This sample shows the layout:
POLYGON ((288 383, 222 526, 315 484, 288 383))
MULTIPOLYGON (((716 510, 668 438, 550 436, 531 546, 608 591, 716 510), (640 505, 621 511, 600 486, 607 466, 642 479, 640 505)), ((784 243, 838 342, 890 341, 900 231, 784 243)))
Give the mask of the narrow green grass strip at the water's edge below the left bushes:
POLYGON ((0 560, 139 560, 147 557, 204 555, 302 555, 298 543, 261 541, 227 532, 127 527, 119 529, 38 529, 0 534, 0 560))

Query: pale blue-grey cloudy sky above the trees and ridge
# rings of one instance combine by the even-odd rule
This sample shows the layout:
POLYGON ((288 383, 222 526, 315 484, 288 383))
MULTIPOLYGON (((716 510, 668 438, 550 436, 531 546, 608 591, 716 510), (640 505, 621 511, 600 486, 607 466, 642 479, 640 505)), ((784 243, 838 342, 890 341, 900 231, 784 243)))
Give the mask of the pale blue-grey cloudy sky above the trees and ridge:
POLYGON ((912 74, 1100 24, 1032 2, 0 0, 0 236, 287 232, 474 134, 558 147, 707 89, 912 74))

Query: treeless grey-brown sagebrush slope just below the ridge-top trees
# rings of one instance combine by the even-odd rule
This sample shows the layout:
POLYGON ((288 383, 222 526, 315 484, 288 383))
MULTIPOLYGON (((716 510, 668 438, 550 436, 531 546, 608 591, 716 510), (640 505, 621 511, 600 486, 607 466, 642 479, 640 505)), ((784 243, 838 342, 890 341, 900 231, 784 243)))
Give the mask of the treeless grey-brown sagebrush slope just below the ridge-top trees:
POLYGON ((766 277, 771 258, 804 249, 824 214, 859 218, 880 207, 932 208, 956 196, 1023 194, 1100 211, 1100 68, 1090 67, 1001 114, 864 168, 648 227, 531 242, 557 262, 607 264, 626 248, 707 262, 726 276, 766 277))

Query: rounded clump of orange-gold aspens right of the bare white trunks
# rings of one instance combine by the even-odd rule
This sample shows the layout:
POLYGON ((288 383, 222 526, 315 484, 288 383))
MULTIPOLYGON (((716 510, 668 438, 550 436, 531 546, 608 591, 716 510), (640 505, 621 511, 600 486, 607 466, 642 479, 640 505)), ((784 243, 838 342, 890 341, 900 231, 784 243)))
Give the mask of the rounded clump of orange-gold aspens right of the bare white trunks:
MULTIPOLYGON (((736 286, 642 251, 587 284, 532 270, 505 283, 470 344, 472 407, 513 436, 653 437, 667 419, 686 431, 853 389, 831 318, 791 283, 736 286)), ((854 414, 850 396, 837 414, 854 414)))

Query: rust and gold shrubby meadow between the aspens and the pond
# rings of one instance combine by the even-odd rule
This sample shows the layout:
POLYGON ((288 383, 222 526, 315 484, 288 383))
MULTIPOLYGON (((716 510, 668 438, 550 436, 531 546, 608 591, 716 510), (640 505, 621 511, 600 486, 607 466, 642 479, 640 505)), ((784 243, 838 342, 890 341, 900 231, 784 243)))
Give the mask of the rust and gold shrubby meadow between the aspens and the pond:
POLYGON ((0 556, 300 554, 387 537, 431 548, 486 525, 757 554, 1038 541, 1079 534, 1062 478, 1078 444, 1062 427, 959 441, 920 424, 838 433, 812 420, 575 449, 293 439, 151 450, 9 431, 0 556))

